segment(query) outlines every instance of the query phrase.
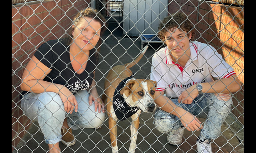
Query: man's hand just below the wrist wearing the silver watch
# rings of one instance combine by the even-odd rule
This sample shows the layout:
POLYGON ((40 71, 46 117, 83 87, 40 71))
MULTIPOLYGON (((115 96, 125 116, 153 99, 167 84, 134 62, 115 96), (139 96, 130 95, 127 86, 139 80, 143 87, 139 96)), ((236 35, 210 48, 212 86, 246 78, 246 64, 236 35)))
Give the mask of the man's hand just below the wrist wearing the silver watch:
POLYGON ((191 86, 179 96, 178 102, 191 104, 193 99, 198 95, 198 90, 196 89, 196 85, 191 86))

